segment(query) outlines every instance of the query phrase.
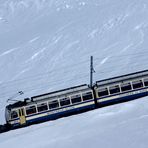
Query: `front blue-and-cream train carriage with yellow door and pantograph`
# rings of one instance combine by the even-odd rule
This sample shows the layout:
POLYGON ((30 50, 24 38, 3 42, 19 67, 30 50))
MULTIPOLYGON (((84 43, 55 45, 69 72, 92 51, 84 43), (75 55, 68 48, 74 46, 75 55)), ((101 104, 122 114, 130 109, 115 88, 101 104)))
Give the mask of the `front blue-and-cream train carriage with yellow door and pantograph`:
POLYGON ((9 105, 6 107, 6 121, 12 127, 19 127, 57 119, 94 107, 92 89, 87 85, 80 85, 9 105))

